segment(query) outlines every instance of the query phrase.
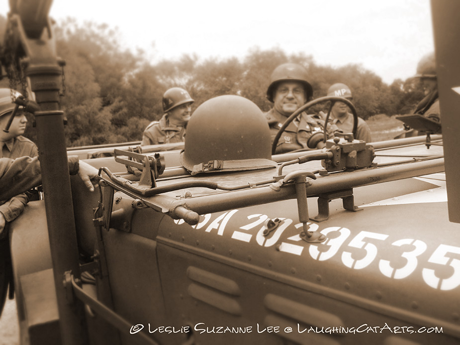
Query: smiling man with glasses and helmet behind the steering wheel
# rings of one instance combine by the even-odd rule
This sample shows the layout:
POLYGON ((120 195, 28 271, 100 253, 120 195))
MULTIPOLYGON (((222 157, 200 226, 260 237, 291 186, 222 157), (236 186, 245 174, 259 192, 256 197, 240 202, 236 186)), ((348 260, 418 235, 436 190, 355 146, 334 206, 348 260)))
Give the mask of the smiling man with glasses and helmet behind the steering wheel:
MULTIPOLYGON (((272 73, 267 99, 273 102, 273 108, 265 114, 269 122, 272 141, 284 121, 313 96, 313 89, 307 81, 307 71, 303 66, 293 63, 279 65, 272 73)), ((302 148, 321 148, 319 142, 309 147, 308 139, 313 134, 322 132, 324 121, 306 113, 301 113, 292 121, 281 135, 276 153, 289 152, 302 148)), ((335 126, 334 126, 335 127, 335 126)), ((332 134, 333 127, 329 126, 332 134)))

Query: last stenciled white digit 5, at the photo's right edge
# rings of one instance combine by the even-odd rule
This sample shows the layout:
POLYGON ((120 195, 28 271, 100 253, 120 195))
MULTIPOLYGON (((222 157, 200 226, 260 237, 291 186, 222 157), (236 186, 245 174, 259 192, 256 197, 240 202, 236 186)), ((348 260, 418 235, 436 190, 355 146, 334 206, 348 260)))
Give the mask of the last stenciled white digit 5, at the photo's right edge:
POLYGON ((446 255, 447 253, 460 254, 460 248, 453 245, 440 244, 433 254, 431 254, 428 262, 451 266, 454 268, 452 276, 447 279, 440 279, 436 276, 434 269, 424 268, 422 270, 423 279, 432 288, 452 290, 460 285, 460 260, 446 255))

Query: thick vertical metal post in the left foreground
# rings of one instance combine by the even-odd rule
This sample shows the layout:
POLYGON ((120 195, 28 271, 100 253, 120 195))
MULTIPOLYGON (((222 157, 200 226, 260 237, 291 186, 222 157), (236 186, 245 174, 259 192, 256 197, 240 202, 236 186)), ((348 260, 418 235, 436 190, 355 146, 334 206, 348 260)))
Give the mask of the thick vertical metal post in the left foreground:
MULTIPOLYGON (((43 3, 28 2, 27 13, 39 12, 37 8, 40 4, 43 3)), ((24 14, 22 19, 18 14, 10 17, 11 21, 16 22, 14 38, 20 42, 26 54, 27 59, 23 59, 24 72, 26 77, 30 78, 31 90, 35 93, 40 109, 39 112, 35 112, 37 146, 45 195, 61 338, 66 345, 84 345, 88 344, 88 336, 83 327, 85 324, 84 306, 81 302, 74 303, 74 301, 67 300, 63 286, 65 272, 72 271, 74 275, 79 275, 80 267, 64 137, 64 118, 63 112, 59 111, 61 67, 55 55, 55 42, 54 37, 51 37, 51 28, 49 28, 49 36, 41 35, 41 39, 36 39, 31 36, 30 30, 26 31, 22 25, 23 21, 27 21, 26 24, 30 28, 32 24, 29 22, 30 17, 24 14)))

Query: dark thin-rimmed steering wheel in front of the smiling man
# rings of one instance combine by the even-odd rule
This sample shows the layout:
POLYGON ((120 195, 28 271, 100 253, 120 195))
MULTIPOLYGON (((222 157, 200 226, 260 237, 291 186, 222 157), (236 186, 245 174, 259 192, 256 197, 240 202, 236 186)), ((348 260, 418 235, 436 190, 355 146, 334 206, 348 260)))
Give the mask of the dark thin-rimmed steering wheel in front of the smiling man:
POLYGON ((345 99, 343 97, 337 97, 337 96, 320 97, 320 98, 318 98, 316 100, 313 100, 313 101, 310 101, 310 102, 304 104, 302 107, 297 109, 294 113, 292 113, 292 115, 290 115, 288 118, 286 118, 286 120, 282 124, 281 128, 279 128, 278 132, 276 133, 275 138, 273 139, 272 154, 275 154, 276 146, 278 144, 279 138, 281 137, 281 134, 284 132, 286 127, 289 125, 289 123, 291 123, 294 120, 294 118, 296 118, 300 113, 302 113, 306 109, 311 108, 313 106, 316 106, 317 104, 323 103, 323 102, 331 102, 331 107, 329 108, 329 111, 328 111, 328 113, 326 115, 326 119, 325 119, 325 123, 324 123, 324 142, 326 142, 326 140, 327 140, 327 124, 328 124, 328 121, 329 121, 329 117, 331 115, 331 109, 334 106, 334 103, 336 103, 336 102, 345 103, 350 108, 350 110, 352 111, 352 113, 353 113, 353 136, 356 137, 356 131, 357 131, 357 128, 358 128, 358 114, 356 113, 356 109, 355 109, 355 106, 353 105, 353 103, 351 103, 349 100, 347 100, 347 99, 345 99))

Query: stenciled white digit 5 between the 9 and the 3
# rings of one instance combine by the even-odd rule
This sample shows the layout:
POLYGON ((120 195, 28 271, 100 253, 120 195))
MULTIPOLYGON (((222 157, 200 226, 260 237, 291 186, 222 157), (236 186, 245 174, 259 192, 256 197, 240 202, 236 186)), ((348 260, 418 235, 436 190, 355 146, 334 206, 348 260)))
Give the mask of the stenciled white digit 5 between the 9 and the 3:
POLYGON ((350 247, 355 247, 355 248, 363 248, 366 250, 366 256, 362 259, 356 260, 353 259, 352 253, 349 251, 344 251, 342 253, 342 262, 344 263, 345 266, 354 268, 354 269, 363 269, 367 267, 373 259, 375 259, 375 256, 377 256, 377 247, 372 244, 364 241, 366 237, 368 238, 375 238, 375 239, 381 239, 384 240, 388 237, 388 235, 385 235, 383 233, 377 233, 377 232, 370 232, 370 231, 361 231, 358 233, 348 244, 350 247))

